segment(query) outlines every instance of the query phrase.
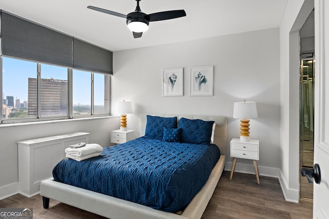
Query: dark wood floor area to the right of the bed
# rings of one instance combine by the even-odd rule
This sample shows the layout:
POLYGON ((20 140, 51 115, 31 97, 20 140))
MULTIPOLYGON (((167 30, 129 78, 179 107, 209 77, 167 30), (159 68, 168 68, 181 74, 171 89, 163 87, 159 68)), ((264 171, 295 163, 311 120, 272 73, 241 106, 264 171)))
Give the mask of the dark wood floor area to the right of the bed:
POLYGON ((312 200, 286 202, 277 178, 224 171, 203 218, 312 218, 312 200))

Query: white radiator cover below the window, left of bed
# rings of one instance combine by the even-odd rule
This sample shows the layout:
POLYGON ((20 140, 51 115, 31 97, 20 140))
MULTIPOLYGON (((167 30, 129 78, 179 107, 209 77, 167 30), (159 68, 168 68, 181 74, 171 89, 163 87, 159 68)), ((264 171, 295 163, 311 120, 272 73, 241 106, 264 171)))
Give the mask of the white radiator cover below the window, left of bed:
POLYGON ((17 141, 20 193, 40 193, 40 182, 52 177, 52 169, 65 158, 65 149, 79 142, 89 143, 89 133, 78 132, 17 141))

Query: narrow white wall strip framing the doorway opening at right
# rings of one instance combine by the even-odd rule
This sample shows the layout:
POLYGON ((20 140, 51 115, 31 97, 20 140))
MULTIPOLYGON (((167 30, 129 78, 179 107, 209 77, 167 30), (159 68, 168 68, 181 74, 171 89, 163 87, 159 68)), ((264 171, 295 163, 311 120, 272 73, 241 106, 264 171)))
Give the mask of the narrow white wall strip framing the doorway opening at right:
POLYGON ((299 200, 299 30, 314 0, 288 1, 280 26, 280 184, 286 200, 299 200))

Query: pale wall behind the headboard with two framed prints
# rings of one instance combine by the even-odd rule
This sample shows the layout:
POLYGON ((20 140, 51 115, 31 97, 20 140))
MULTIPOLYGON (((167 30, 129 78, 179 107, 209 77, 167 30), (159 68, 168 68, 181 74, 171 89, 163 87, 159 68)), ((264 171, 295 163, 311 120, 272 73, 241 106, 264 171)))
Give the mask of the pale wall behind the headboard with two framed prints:
MULTIPOLYGON (((260 140, 260 174, 278 177, 279 47, 279 28, 273 28, 114 52, 112 112, 116 101, 132 101, 134 114, 127 116, 127 127, 138 134, 141 113, 224 115, 229 151, 231 138, 240 135, 233 103, 256 101, 259 118, 250 121, 250 136, 260 140), (214 66, 213 96, 189 96, 190 67, 206 65, 214 66), (184 96, 162 97, 162 69, 175 67, 184 67, 184 96)), ((232 159, 227 161, 230 169, 232 159)), ((254 173, 252 161, 238 159, 236 171, 254 173)))

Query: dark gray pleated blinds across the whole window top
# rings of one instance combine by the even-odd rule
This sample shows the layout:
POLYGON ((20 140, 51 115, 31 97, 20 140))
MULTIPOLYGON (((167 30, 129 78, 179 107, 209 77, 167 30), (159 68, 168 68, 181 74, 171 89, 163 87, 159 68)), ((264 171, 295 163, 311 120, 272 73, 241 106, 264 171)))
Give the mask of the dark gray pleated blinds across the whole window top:
POLYGON ((5 56, 113 74, 113 52, 1 11, 5 56))

